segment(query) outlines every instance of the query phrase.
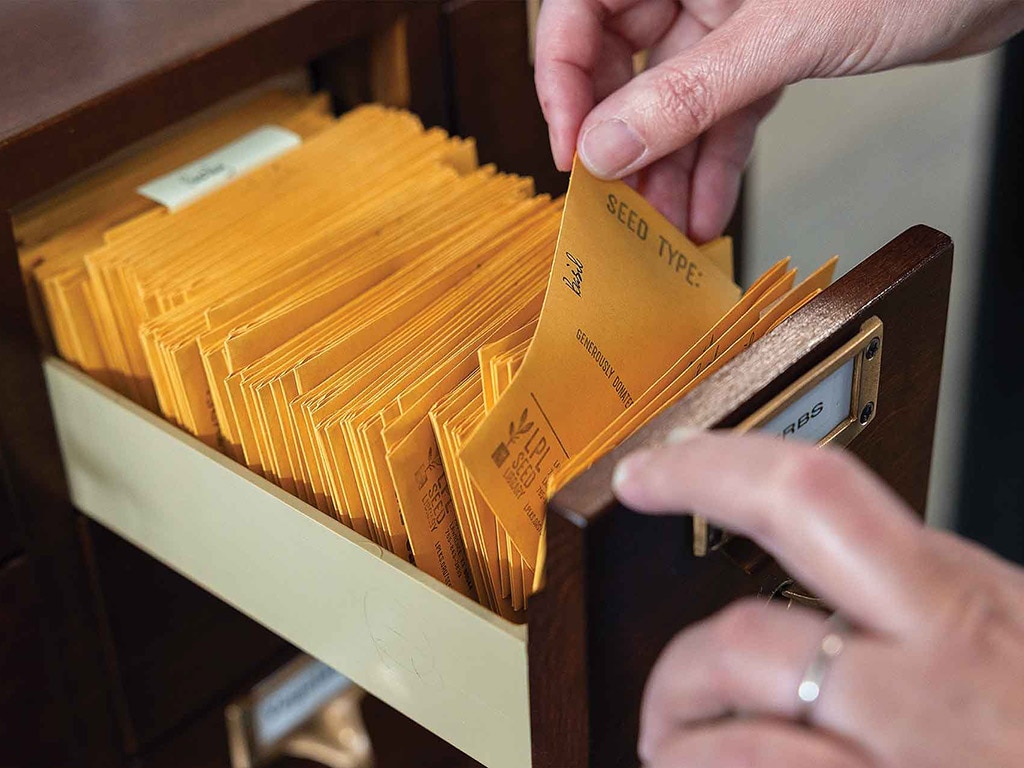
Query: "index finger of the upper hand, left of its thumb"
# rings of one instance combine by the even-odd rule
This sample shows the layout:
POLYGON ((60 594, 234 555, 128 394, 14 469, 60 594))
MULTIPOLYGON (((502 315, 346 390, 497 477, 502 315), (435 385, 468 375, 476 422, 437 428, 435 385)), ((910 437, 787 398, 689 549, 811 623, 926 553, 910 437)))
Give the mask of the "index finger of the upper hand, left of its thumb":
POLYGON ((632 54, 653 43, 677 12, 672 0, 548 0, 541 6, 535 80, 560 170, 571 167, 580 125, 597 100, 606 27, 632 54))

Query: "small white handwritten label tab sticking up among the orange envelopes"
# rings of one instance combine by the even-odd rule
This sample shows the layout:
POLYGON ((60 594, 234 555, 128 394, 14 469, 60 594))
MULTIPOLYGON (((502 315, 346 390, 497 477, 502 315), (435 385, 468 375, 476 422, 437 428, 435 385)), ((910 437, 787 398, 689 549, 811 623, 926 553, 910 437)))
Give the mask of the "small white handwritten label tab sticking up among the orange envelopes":
POLYGON ((301 143, 302 137, 294 131, 264 125, 135 191, 173 212, 301 143))

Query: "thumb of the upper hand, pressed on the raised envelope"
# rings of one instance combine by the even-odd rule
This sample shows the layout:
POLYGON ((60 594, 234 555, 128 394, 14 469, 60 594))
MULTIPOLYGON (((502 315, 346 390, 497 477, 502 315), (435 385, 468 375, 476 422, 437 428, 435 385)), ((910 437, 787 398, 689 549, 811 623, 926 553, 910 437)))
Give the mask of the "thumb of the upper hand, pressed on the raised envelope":
POLYGON ((640 170, 811 71, 795 19, 749 9, 594 108, 578 145, 591 173, 620 178, 640 170))

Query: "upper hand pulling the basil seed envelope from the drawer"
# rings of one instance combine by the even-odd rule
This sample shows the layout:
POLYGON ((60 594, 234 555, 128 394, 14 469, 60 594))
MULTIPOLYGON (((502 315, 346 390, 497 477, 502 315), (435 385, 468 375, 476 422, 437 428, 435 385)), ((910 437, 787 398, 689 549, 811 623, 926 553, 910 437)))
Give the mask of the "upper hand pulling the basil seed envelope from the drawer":
POLYGON ((536 80, 551 150, 718 236, 779 90, 966 55, 1024 27, 1020 0, 544 0, 536 80), (649 50, 633 77, 632 55, 649 50))

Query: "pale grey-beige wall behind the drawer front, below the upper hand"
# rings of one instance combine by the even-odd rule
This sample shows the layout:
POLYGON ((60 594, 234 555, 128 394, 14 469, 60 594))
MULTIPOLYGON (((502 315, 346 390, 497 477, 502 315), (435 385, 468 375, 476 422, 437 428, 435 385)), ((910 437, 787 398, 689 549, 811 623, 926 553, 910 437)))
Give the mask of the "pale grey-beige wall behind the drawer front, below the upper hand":
MULTIPOLYGON (((748 274, 792 255, 840 273, 926 223, 955 244, 929 520, 955 519, 999 54, 788 89, 762 126, 749 195, 748 274)), ((883 406, 884 408, 884 406, 883 406)))

